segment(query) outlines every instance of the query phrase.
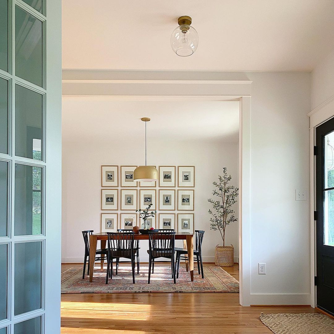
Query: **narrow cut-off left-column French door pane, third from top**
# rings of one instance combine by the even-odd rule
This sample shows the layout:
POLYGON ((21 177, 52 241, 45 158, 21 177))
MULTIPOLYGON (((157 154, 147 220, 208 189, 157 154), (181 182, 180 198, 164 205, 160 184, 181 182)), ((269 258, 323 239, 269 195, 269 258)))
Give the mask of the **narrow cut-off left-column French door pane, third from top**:
POLYGON ((8 162, 0 160, 0 236, 7 236, 7 226, 8 226, 7 220, 8 220, 8 162))

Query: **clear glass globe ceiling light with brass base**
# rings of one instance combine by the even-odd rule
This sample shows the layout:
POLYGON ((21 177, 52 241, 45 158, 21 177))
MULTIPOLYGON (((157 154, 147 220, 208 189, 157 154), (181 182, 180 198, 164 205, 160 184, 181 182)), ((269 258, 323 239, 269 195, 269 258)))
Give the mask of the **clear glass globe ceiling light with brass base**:
POLYGON ((192 55, 198 47, 198 33, 191 27, 191 17, 181 16, 177 20, 176 27, 170 36, 170 45, 173 51, 181 57, 192 55))

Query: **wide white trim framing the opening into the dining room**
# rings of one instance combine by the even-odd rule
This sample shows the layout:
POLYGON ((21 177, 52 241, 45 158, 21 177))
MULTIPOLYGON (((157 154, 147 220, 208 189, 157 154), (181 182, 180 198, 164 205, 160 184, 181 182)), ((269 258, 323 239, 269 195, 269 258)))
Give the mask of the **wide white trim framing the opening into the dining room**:
MULTIPOLYGON (((106 74, 106 73, 104 73, 106 74)), ((63 98, 113 101, 239 101, 239 303, 251 305, 250 280, 250 112, 251 80, 120 80, 101 72, 63 71, 63 98), (65 73, 64 73, 65 72, 65 73), (72 73, 71 73, 72 72, 72 73), (72 77, 78 75, 78 79, 72 77), (91 76, 89 78, 88 76, 91 76), (96 75, 96 77, 94 77, 96 75), (85 79, 82 79, 85 77, 85 79), (180 85, 182 95, 179 95, 180 85), (101 95, 103 92, 103 95, 101 95), (116 93, 116 94, 115 94, 116 93), (139 93, 139 94, 138 94, 139 93), (194 95, 194 94, 207 95, 194 95)), ((184 77, 184 74, 182 74, 184 77)))

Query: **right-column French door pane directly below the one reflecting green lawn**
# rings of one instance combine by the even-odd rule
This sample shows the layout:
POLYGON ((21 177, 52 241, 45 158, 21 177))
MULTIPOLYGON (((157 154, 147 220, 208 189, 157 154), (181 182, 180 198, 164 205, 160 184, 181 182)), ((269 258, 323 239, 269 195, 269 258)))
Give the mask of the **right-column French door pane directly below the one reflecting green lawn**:
POLYGON ((42 243, 40 241, 15 244, 14 315, 42 307, 41 261, 42 243))

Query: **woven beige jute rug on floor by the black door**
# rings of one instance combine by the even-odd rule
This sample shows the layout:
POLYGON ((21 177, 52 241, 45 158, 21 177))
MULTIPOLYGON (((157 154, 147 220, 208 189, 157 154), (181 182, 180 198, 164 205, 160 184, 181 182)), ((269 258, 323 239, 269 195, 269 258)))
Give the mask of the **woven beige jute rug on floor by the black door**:
POLYGON ((260 320, 275 334, 334 333, 334 320, 320 313, 261 313, 260 320))

